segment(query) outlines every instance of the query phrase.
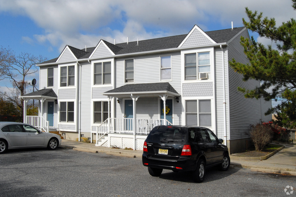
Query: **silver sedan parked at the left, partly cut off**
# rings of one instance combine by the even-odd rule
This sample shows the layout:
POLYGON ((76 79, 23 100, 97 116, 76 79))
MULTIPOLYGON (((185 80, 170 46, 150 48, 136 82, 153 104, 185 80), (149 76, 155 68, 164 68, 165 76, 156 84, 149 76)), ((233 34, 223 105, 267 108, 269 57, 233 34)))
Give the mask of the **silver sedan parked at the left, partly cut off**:
POLYGON ((42 132, 29 124, 0 122, 0 154, 7 149, 47 147, 55 150, 61 142, 59 135, 42 132))

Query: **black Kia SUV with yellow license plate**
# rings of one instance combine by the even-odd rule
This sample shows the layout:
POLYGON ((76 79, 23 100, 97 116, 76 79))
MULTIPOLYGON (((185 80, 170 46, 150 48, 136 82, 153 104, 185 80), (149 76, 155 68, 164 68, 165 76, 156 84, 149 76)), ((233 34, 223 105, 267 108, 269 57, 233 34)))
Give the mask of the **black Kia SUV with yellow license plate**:
POLYGON ((151 176, 160 176, 163 169, 193 171, 194 181, 202 182, 205 168, 218 165, 228 170, 227 146, 221 144, 208 128, 197 126, 157 126, 144 142, 142 162, 151 176))

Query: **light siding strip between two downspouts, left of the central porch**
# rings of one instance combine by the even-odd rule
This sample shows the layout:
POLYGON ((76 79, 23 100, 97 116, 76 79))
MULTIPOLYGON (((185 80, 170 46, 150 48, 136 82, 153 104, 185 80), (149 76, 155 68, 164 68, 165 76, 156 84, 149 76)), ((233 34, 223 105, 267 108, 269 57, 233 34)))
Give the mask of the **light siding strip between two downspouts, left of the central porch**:
MULTIPOLYGON (((91 65, 83 64, 81 70, 81 132, 91 130, 91 65)), ((78 110, 77 110, 78 111, 78 110)))

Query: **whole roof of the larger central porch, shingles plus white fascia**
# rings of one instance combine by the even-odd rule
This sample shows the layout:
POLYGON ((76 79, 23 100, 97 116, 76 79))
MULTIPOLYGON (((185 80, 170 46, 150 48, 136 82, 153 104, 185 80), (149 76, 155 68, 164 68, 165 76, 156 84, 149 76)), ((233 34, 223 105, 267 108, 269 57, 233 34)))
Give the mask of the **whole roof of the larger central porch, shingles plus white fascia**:
POLYGON ((129 98, 131 94, 145 97, 159 97, 164 94, 169 97, 179 97, 181 95, 170 85, 170 83, 147 83, 147 84, 126 84, 121 87, 109 90, 102 95, 129 98))

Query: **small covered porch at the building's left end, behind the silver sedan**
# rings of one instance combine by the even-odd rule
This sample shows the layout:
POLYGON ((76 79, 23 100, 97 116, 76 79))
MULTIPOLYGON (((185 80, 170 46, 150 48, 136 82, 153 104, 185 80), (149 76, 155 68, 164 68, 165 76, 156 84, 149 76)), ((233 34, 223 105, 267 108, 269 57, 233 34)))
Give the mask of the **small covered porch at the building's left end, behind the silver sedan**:
MULTIPOLYGON (((43 131, 49 132, 50 127, 54 127, 54 103, 57 104, 57 95, 53 91, 53 89, 41 89, 35 92, 28 93, 26 95, 20 96, 20 98, 24 99, 24 117, 23 122, 33 125, 36 128, 40 128, 43 131), (28 100, 38 100, 40 101, 38 114, 37 116, 27 115, 27 102, 28 100), (48 105, 52 105, 52 110, 50 113, 44 113, 44 103, 45 101, 50 100, 51 103, 48 105), (46 117, 43 115, 46 114, 46 117)), ((49 108, 49 107, 48 107, 49 108)))

